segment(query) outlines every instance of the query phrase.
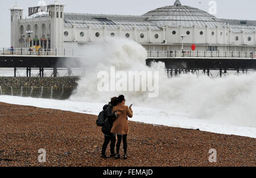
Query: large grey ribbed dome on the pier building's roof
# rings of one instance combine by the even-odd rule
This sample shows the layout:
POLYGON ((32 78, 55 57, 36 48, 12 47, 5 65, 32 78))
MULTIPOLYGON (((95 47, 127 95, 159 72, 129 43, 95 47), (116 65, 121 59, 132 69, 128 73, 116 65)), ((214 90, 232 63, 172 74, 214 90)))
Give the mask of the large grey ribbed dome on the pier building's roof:
POLYGON ((160 27, 223 27, 215 16, 195 7, 183 6, 176 0, 173 6, 164 6, 149 11, 143 16, 148 16, 147 20, 158 24, 160 27))

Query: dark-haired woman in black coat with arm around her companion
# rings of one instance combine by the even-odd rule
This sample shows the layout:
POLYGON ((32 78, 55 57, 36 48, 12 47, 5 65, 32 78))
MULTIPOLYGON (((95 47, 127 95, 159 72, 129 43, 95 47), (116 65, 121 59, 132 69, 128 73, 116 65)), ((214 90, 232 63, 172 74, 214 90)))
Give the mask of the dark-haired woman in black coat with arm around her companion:
POLYGON ((115 99, 117 97, 113 97, 111 98, 111 101, 109 103, 109 105, 105 105, 103 107, 103 109, 105 110, 105 123, 104 126, 102 127, 102 133, 104 133, 105 136, 105 140, 104 143, 102 145, 102 151, 101 151, 101 157, 102 158, 108 158, 108 156, 106 156, 106 148, 108 147, 109 142, 110 143, 110 152, 111 155, 110 157, 114 157, 115 156, 115 134, 110 133, 112 126, 113 126, 113 122, 115 121, 115 119, 118 117, 118 115, 120 115, 119 112, 117 113, 112 113, 113 111, 113 106, 115 105, 115 99))

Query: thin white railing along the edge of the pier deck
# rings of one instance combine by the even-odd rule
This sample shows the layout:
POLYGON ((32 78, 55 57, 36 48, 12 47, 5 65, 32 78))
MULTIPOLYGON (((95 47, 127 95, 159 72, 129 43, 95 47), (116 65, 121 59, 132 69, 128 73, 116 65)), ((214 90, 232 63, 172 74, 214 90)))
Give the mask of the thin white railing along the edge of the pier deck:
MULTIPOLYGON (((77 49, 0 48, 0 55, 82 56, 77 49)), ((256 58, 254 51, 147 51, 147 57, 256 58)))

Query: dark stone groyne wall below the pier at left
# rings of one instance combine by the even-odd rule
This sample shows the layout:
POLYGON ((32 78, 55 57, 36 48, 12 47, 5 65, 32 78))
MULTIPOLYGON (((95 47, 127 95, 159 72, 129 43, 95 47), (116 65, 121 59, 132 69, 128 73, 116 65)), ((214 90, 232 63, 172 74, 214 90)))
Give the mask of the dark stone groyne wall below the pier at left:
POLYGON ((0 95, 68 99, 79 77, 0 77, 0 95))

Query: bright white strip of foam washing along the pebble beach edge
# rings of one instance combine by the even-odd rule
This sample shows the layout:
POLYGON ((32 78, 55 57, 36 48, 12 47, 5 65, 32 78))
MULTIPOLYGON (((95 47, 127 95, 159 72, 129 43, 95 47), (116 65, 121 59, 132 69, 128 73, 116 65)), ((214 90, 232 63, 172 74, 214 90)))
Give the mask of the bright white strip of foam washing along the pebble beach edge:
MULTIPOLYGON (((41 98, 24 98, 15 96, 0 96, 0 102, 15 105, 35 106, 46 109, 60 109, 76 113, 97 115, 104 106, 103 103, 60 101, 41 98)), ((242 127, 228 123, 214 123, 210 120, 191 118, 187 114, 175 113, 166 110, 153 109, 150 107, 133 107, 134 117, 130 121, 180 127, 184 129, 200 129, 212 133, 241 135, 256 138, 255 127, 242 127)), ((72 119, 72 118, 71 118, 72 119)))

